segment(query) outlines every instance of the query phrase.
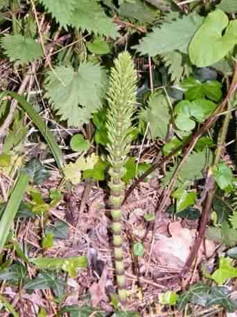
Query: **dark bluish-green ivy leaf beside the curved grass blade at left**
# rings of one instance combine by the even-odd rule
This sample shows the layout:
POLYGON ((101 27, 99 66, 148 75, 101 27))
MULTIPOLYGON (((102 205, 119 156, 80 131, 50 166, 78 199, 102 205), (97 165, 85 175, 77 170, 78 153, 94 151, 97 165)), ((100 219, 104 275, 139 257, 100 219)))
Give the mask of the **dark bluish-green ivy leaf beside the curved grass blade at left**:
POLYGON ((49 170, 44 168, 39 158, 31 158, 23 170, 30 175, 30 181, 32 181, 33 184, 42 185, 44 181, 50 177, 49 170))

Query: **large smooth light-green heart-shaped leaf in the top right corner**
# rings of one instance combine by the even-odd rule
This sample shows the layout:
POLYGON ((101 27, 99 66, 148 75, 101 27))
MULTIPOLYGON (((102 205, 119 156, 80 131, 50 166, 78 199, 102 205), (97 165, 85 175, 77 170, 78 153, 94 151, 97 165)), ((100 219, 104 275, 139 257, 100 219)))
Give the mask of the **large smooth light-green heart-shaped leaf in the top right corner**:
POLYGON ((226 56, 236 43, 237 19, 229 22, 224 12, 216 10, 209 13, 193 36, 188 47, 189 57, 198 67, 210 66, 226 56))

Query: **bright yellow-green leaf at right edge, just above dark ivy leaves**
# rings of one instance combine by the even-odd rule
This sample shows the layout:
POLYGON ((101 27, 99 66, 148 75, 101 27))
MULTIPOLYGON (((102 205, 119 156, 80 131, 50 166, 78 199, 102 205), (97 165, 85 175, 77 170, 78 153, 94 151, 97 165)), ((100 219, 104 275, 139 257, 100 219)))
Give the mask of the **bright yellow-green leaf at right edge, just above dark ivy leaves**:
POLYGON ((224 284, 227 279, 237 277, 237 268, 231 266, 231 259, 221 257, 219 262, 219 268, 211 275, 211 278, 214 279, 218 285, 224 284))

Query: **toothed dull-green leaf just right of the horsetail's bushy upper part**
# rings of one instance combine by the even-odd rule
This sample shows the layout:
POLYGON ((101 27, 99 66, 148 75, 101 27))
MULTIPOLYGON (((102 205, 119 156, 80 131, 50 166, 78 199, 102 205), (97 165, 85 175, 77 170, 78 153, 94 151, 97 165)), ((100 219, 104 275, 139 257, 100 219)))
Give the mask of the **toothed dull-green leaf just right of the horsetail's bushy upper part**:
POLYGON ((152 138, 165 140, 171 120, 170 106, 164 95, 151 95, 148 107, 141 109, 139 119, 149 124, 152 138))

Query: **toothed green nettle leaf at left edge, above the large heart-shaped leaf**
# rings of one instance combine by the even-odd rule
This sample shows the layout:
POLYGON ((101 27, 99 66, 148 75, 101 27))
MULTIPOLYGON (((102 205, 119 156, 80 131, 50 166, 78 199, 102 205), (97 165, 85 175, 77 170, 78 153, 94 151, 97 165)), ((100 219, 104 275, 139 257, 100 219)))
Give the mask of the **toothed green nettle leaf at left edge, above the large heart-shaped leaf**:
POLYGON ((1 38, 0 43, 11 61, 17 60, 24 64, 33 62, 33 60, 43 56, 40 44, 32 38, 24 38, 19 34, 7 34, 4 38, 1 38))

